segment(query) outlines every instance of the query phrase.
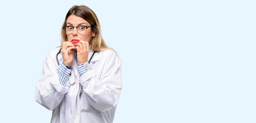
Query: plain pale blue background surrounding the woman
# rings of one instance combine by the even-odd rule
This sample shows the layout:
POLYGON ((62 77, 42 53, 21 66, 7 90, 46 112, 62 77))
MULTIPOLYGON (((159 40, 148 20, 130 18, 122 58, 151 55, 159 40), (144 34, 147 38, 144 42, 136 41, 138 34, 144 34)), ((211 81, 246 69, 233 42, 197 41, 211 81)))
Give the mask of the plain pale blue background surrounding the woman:
POLYGON ((1 122, 50 122, 35 84, 73 5, 122 60, 119 122, 256 122, 255 1, 1 1, 1 122))

